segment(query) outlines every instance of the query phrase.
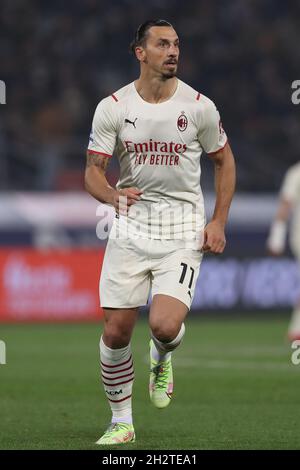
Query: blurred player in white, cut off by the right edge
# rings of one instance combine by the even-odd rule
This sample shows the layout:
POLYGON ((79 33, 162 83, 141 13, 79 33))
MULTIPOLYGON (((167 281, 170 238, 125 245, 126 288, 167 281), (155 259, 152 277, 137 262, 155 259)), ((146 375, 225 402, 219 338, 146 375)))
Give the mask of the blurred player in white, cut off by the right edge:
MULTIPOLYGON (((288 169, 280 189, 277 212, 267 240, 267 248, 274 256, 282 255, 285 250, 288 220, 292 212, 290 247, 300 261, 300 163, 288 169)), ((300 339, 300 299, 292 312, 288 338, 291 341, 300 339)))

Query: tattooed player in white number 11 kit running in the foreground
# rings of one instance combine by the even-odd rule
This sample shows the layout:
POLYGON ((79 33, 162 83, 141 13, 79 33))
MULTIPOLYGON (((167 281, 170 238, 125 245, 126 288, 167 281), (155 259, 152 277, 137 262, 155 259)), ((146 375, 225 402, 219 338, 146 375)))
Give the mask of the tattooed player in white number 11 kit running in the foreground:
POLYGON ((132 51, 140 76, 100 101, 87 150, 86 189, 116 209, 100 279, 101 373, 112 421, 99 445, 135 440, 130 339, 150 289, 149 393, 155 407, 169 405, 172 351, 185 332, 203 252, 224 250, 235 186, 234 158, 219 112, 176 77, 179 39, 173 26, 164 20, 143 23, 132 51), (206 226, 203 150, 214 162, 216 188, 206 226), (120 164, 116 189, 105 177, 112 154, 120 164))

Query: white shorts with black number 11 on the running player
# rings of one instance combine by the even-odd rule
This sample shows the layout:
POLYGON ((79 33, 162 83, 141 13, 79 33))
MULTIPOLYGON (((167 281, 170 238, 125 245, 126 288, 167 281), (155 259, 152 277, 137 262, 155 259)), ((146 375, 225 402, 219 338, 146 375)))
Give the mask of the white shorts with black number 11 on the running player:
POLYGON ((151 290, 152 296, 170 295, 190 309, 202 257, 200 250, 187 248, 184 240, 109 238, 100 278, 100 305, 146 305, 151 290))

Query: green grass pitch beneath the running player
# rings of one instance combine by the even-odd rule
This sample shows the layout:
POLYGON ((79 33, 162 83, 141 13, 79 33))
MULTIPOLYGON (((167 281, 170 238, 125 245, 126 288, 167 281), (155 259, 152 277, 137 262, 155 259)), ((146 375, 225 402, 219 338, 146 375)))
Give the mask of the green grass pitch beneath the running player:
MULTIPOLYGON (((206 315, 208 317, 208 315, 206 315)), ((115 449, 300 449, 300 365, 287 317, 188 319, 174 354, 175 393, 148 398, 148 328, 134 338, 137 441, 115 449)), ((0 325, 0 449, 98 449, 110 419, 99 384, 101 325, 0 325)))

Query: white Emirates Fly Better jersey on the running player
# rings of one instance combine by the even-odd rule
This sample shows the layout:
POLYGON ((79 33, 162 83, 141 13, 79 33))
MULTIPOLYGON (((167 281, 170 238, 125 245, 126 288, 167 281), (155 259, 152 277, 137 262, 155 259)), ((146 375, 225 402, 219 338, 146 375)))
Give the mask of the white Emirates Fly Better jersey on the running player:
POLYGON ((197 239, 205 225, 200 157, 226 142, 214 103, 181 80, 162 103, 143 100, 134 82, 100 101, 88 148, 118 158, 117 189, 143 191, 110 236, 197 239))

